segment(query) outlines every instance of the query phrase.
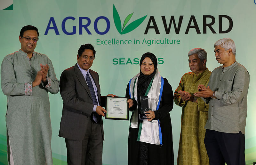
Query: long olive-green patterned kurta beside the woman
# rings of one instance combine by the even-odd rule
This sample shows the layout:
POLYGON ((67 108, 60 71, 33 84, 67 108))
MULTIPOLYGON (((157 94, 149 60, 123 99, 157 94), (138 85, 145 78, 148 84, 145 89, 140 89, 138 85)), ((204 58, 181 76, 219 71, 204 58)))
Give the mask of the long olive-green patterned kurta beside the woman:
POLYGON ((177 165, 206 165, 209 158, 204 146, 205 123, 208 118, 208 104, 200 97, 198 103, 182 101, 179 90, 190 94, 198 92, 197 86, 207 86, 211 72, 206 68, 204 72, 196 76, 189 72, 182 76, 178 88, 174 92, 174 102, 182 106, 180 144, 177 165))

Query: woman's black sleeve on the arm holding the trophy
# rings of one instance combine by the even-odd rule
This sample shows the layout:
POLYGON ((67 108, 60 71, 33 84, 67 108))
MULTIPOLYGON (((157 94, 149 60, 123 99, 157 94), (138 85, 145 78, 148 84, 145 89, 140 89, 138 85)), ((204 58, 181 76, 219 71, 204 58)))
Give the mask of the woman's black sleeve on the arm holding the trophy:
POLYGON ((159 109, 155 111, 155 118, 153 120, 162 119, 172 111, 173 108, 173 92, 172 86, 168 80, 164 78, 164 87, 159 109))

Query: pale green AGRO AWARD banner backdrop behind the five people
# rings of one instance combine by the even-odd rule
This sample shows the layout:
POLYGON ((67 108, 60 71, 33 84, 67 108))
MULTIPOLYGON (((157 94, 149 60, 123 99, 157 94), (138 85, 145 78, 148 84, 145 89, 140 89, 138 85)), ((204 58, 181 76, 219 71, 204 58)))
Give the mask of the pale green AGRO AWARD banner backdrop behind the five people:
MULTIPOLYGON (((160 74, 174 91, 188 67, 188 51, 200 47, 208 53, 206 66, 220 66, 213 44, 221 38, 236 43, 236 60, 250 73, 245 134, 246 164, 256 161, 255 0, 1 0, 0 61, 20 49, 18 36, 25 25, 39 29, 36 52, 46 54, 57 78, 74 66, 80 45, 91 43, 97 51, 92 69, 100 75, 101 95, 124 96, 128 81, 139 73, 142 54, 158 58, 160 74)), ((0 92, 0 164, 7 164, 6 96, 0 92)), ((49 94, 52 154, 55 165, 66 164, 64 138, 58 137, 62 114, 60 94, 49 94)), ((181 107, 172 118, 174 157, 177 161, 181 107)), ((131 114, 130 114, 131 115, 131 114)), ((103 164, 126 165, 129 121, 105 120, 103 164)))

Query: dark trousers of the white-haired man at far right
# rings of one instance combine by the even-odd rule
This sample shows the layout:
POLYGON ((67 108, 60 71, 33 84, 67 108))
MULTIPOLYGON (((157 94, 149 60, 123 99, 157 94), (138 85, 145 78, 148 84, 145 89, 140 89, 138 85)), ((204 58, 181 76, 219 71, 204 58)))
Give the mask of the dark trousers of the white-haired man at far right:
POLYGON ((204 144, 210 165, 245 165, 245 140, 241 133, 222 133, 206 129, 204 144))

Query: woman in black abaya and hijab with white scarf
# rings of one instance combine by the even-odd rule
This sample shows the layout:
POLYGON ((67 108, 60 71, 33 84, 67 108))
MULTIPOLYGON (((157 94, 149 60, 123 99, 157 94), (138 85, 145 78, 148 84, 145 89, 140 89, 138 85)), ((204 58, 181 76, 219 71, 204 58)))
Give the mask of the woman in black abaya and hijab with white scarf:
POLYGON ((172 87, 160 76, 157 59, 145 53, 140 73, 128 83, 126 97, 132 111, 128 137, 128 165, 174 165, 172 124, 172 87), (147 120, 139 120, 140 96, 148 96, 147 120))

